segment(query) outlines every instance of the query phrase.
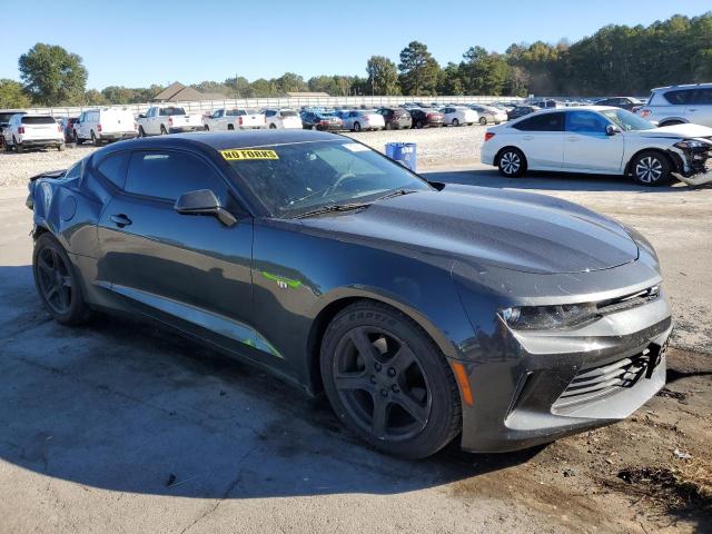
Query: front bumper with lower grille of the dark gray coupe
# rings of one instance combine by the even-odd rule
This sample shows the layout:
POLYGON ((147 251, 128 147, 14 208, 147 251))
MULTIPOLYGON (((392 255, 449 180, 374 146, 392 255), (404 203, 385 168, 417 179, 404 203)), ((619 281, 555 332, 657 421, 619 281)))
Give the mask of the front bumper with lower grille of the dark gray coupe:
POLYGON ((523 334, 503 324, 511 353, 465 364, 474 405, 463 407, 462 447, 516 451, 629 417, 665 384, 671 332, 663 297, 574 332, 523 334))

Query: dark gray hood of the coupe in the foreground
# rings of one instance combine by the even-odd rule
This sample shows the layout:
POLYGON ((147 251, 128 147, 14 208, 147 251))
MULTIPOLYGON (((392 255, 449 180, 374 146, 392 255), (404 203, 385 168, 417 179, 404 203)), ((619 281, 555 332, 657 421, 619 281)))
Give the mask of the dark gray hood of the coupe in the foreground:
POLYGON ((360 211, 300 219, 335 238, 418 249, 471 265, 537 274, 609 269, 637 258, 615 221, 565 200, 446 186, 372 204, 360 211))

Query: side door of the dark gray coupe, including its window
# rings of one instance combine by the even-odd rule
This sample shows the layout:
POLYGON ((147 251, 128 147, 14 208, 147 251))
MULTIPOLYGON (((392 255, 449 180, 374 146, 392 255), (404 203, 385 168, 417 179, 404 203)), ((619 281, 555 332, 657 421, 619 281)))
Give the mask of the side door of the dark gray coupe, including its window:
POLYGON ((239 350, 253 335, 253 220, 219 170, 179 150, 119 152, 98 170, 118 172, 107 178, 121 186, 98 227, 101 284, 131 309, 239 350), (212 190, 238 222, 178 214, 176 199, 197 189, 212 190))

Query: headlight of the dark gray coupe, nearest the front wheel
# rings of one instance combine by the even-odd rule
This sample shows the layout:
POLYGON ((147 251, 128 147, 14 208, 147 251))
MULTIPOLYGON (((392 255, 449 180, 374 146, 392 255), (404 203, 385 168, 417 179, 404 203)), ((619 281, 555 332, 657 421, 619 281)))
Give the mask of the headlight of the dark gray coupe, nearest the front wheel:
POLYGON ((514 329, 548 330, 583 323, 597 313, 594 303, 505 308, 500 315, 514 329))

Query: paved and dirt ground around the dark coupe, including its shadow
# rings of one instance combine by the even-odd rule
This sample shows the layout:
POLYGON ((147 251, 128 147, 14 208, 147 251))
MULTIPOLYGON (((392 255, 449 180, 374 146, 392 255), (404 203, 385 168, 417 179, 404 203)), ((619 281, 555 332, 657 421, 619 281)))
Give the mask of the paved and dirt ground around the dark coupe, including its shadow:
POLYGON ((51 322, 32 286, 26 189, 4 187, 0 533, 712 532, 712 188, 429 167, 432 179, 567 198, 646 235, 678 325, 665 389, 625 422, 536 449, 385 457, 324 399, 170 334, 51 322))

